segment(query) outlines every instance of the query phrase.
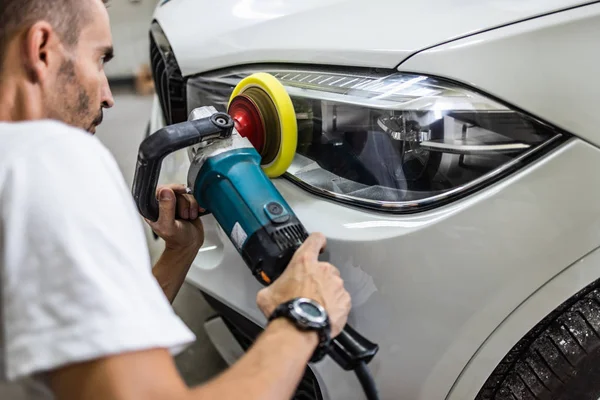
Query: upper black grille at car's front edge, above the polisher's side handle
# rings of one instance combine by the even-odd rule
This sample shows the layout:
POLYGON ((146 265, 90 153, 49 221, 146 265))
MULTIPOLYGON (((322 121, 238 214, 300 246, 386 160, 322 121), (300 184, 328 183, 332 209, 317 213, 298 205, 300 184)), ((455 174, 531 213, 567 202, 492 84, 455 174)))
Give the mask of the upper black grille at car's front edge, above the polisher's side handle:
POLYGON ((173 51, 156 22, 150 31, 150 64, 165 122, 167 125, 171 125, 186 121, 187 95, 185 80, 173 51), (158 41, 164 43, 159 45, 158 41))

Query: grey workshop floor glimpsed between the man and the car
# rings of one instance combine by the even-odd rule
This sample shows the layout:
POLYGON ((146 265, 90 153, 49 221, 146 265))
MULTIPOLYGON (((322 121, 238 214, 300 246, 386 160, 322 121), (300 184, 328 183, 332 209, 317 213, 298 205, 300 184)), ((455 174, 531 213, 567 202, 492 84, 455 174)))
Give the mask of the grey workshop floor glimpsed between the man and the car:
MULTIPOLYGON (((113 88, 113 94, 115 106, 105 112, 97 136, 111 150, 127 184, 131 186, 138 146, 150 115, 152 96, 137 96, 127 88, 113 88)), ((173 307, 197 338, 196 343, 176 358, 177 367, 187 384, 197 385, 226 367, 204 332, 204 321, 213 310, 200 293, 187 284, 179 292, 173 307)))

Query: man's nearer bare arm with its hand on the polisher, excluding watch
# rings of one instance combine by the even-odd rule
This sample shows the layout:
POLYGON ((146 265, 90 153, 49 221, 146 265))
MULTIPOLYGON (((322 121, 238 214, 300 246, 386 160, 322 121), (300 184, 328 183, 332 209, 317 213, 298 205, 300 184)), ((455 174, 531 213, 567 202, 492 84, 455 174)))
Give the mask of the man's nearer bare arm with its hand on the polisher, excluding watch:
MULTIPOLYGON (((311 298, 327 310, 335 337, 346 324, 350 295, 339 271, 318 261, 324 246, 322 235, 311 235, 257 302, 270 315, 282 302, 311 298)), ((57 400, 282 400, 292 396, 317 344, 315 332, 301 332, 280 318, 234 366, 197 388, 186 387, 170 354, 159 349, 65 367, 50 373, 49 382, 57 400)))

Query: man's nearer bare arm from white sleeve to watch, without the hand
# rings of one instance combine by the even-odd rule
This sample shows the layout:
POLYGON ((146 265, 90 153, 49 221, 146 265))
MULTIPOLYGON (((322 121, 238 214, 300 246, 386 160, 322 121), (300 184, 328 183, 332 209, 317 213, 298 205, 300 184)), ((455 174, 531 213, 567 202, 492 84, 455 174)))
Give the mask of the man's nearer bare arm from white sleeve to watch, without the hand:
POLYGON ((289 399, 317 342, 314 332, 273 321, 233 367, 192 389, 162 349, 66 367, 50 374, 49 382, 57 400, 289 399))

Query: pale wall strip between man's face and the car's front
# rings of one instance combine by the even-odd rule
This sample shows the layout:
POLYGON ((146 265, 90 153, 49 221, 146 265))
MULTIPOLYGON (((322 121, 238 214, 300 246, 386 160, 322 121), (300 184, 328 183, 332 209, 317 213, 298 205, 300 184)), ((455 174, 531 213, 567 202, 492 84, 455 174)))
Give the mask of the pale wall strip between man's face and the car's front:
POLYGON ((115 59, 106 66, 109 78, 128 78, 148 63, 148 29, 158 0, 112 0, 111 18, 115 59))

